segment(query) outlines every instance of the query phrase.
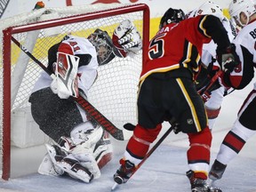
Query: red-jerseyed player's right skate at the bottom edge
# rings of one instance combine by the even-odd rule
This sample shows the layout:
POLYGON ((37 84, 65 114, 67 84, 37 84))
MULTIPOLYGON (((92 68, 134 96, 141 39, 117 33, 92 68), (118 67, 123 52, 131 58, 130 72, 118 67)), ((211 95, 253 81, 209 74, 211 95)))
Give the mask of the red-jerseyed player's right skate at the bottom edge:
POLYGON ((191 184, 191 192, 222 192, 220 188, 210 187, 207 180, 195 178, 193 171, 190 170, 186 174, 191 184))

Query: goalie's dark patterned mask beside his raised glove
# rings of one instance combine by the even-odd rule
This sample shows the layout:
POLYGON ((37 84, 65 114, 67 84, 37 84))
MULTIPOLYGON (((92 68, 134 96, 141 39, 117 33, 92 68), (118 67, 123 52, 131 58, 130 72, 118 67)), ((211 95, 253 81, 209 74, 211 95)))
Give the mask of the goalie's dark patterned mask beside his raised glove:
POLYGON ((105 65, 115 58, 113 43, 110 36, 108 36, 107 31, 102 31, 97 28, 90 36, 88 36, 88 40, 96 49, 99 66, 105 65))

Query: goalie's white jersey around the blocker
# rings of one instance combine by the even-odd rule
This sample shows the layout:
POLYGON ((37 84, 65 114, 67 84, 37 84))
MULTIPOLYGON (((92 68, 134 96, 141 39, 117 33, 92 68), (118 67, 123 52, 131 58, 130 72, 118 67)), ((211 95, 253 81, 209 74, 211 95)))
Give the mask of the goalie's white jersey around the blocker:
MULTIPOLYGON (((73 52, 76 56, 81 56, 83 54, 92 56, 90 57, 91 60, 87 60, 88 63, 79 63, 78 67, 78 88, 82 89, 84 93, 88 95, 88 91, 92 87, 92 84, 94 83, 97 77, 97 68, 99 67, 95 47, 91 44, 91 42, 88 39, 78 36, 66 36, 65 40, 63 40, 61 43, 76 44, 73 46, 73 52)), ((38 80, 36 81, 36 84, 32 92, 36 92, 46 87, 50 87, 51 83, 52 77, 43 71, 39 76, 38 80)))

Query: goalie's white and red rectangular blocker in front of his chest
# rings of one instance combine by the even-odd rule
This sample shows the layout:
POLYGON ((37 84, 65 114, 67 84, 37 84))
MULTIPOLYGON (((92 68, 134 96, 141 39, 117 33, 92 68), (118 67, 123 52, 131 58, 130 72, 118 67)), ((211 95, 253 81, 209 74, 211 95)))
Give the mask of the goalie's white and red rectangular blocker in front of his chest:
POLYGON ((78 97, 77 70, 79 57, 64 52, 57 52, 55 76, 51 88, 60 99, 68 99, 69 96, 78 97))

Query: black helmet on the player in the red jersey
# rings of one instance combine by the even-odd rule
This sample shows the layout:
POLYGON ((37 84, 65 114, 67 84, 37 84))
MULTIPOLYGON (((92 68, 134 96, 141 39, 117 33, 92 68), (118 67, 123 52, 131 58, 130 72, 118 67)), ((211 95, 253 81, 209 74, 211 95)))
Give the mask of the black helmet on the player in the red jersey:
POLYGON ((168 9, 162 19, 160 20, 159 28, 163 28, 164 25, 175 22, 179 23, 181 20, 185 20, 185 13, 181 9, 168 9))

